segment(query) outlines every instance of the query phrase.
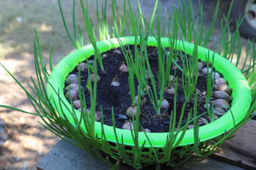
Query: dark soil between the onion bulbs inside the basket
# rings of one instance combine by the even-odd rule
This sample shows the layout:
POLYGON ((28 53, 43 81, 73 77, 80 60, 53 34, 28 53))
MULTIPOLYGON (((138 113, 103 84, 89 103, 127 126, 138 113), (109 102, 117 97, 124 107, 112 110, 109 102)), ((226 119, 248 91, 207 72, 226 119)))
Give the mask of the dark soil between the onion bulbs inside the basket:
MULTIPOLYGON (((134 52, 134 46, 129 45, 130 50, 134 52)), ((97 101, 96 101, 96 111, 101 111, 104 115, 104 124, 112 126, 112 106, 114 108, 114 121, 117 128, 122 128, 127 120, 119 120, 118 115, 125 115, 127 108, 132 106, 132 99, 129 94, 129 83, 128 83, 128 72, 120 72, 119 67, 122 62, 125 63, 124 55, 119 55, 117 52, 114 52, 116 49, 109 50, 104 52, 103 54, 107 55, 106 58, 103 59, 103 65, 105 68, 105 73, 102 74, 100 72, 100 66, 97 65, 98 75, 100 76, 100 81, 97 83, 97 101), (120 86, 112 86, 111 82, 114 77, 117 77, 120 82, 120 86)), ((151 65, 151 70, 154 74, 154 79, 156 80, 156 72, 158 70, 158 55, 156 47, 148 47, 148 55, 149 62, 151 65)), ((102 54, 102 55, 103 55, 102 54)), ((184 55, 184 54, 183 54, 184 55)), ((93 60, 93 57, 90 57, 88 60, 93 60)), ((181 56, 180 56, 181 57, 181 56)), ((182 56, 183 57, 183 56, 182 56)), ((86 62, 86 61, 85 61, 86 62)), ((177 63, 181 65, 181 60, 177 60, 177 63)), ((204 67, 206 67, 206 63, 203 63, 204 67)), ((70 74, 78 75, 78 70, 75 68, 73 72, 70 74)), ((174 69, 171 69, 171 75, 174 75, 174 69)), ((177 69, 176 76, 178 76, 178 97, 177 97, 177 115, 176 115, 176 124, 178 124, 178 120, 180 118, 181 108, 183 107, 183 103, 185 102, 185 96, 183 93, 182 87, 182 73, 177 69)), ((87 90, 87 70, 85 72, 81 72, 81 84, 82 88, 85 90, 85 100, 86 106, 90 108, 90 91, 87 90)), ((207 110, 203 107, 206 103, 203 92, 207 91, 207 77, 206 75, 200 74, 198 76, 197 86, 198 89, 198 111, 197 114, 200 115, 205 113, 207 110)), ((137 96, 137 86, 138 81, 134 78, 135 90, 137 96)), ((67 85, 67 84, 66 84, 67 85)), ((149 80, 149 86, 152 87, 151 81, 149 80)), ((156 81, 157 88, 159 84, 156 81)), ((214 91, 214 89, 213 89, 214 91)), ((66 91, 64 90, 64 93, 66 91)), ((193 99, 194 94, 191 97, 189 103, 186 104, 185 115, 183 117, 184 125, 188 118, 188 112, 193 109, 193 99)), ((170 107, 168 110, 161 110, 161 115, 156 115, 156 111, 152 103, 150 102, 149 96, 146 94, 145 98, 147 99, 144 105, 141 105, 141 116, 139 118, 139 125, 141 125, 144 129, 148 128, 151 132, 169 132, 169 121, 171 117, 171 111, 174 110, 174 94, 164 94, 164 98, 169 101, 170 107)), ((193 115, 193 114, 192 114, 193 115)), ((208 115, 208 114, 207 114, 208 115)), ((207 115, 204 117, 207 118, 207 115)), ((210 122, 210 121, 209 121, 210 122)))

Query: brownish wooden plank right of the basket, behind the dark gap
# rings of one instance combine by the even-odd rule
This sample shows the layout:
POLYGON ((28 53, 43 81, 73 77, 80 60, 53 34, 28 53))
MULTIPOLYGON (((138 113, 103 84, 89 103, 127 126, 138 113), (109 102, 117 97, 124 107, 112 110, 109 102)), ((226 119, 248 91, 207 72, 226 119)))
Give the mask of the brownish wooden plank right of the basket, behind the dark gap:
POLYGON ((211 157, 244 169, 256 169, 255 141, 256 121, 250 120, 235 132, 233 139, 225 141, 219 151, 211 157))

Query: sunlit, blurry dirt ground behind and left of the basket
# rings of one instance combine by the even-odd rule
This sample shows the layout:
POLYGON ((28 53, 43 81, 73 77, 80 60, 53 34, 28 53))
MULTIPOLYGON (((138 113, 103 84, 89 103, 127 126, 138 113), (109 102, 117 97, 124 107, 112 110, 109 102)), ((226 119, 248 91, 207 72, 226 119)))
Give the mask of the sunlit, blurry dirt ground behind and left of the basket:
MULTIPOLYGON (((108 1, 108 9, 110 9, 108 1)), ((131 4, 136 8, 136 1, 131 0, 131 4)), ((154 3, 152 1, 141 0, 142 13, 149 18, 148 11, 152 11, 154 3)), ((169 10, 172 5, 177 5, 176 1, 162 0, 162 12, 164 6, 169 10)), ((198 16, 198 1, 192 0, 194 5, 194 16, 198 16)), ((203 0, 204 24, 210 25, 215 10, 217 0, 203 0)), ((213 47, 221 37, 220 18, 223 13, 228 12, 230 1, 220 1, 220 11, 218 21, 213 30, 213 37, 210 45, 213 47)), ((78 4, 78 2, 77 2, 78 4)), ((103 1, 99 1, 99 6, 103 1)), ((90 13, 95 17, 95 1, 89 1, 90 13)), ((63 1, 63 11, 67 18, 68 26, 71 29, 71 8, 73 1, 63 1)), ((118 6, 122 8, 121 1, 118 6)), ((82 13, 79 4, 76 7, 78 12, 77 21, 82 22, 82 13)), ((0 1, 0 62, 14 74, 21 84, 28 88, 30 76, 35 78, 33 69, 33 28, 38 31, 41 40, 44 60, 48 60, 50 49, 53 48, 53 64, 57 64, 60 57, 65 57, 74 50, 65 33, 65 28, 58 11, 58 0, 9 0, 0 1)), ((111 12, 108 13, 111 15, 111 12)), ((92 17, 92 20, 95 18, 92 17)), ((232 22, 230 21, 231 28, 232 22)), ((83 28, 83 27, 82 27, 83 28)), ((73 30, 72 30, 73 31, 73 30)), ((242 55, 245 55, 246 40, 242 38, 242 55)), ((26 98, 26 94, 15 81, 0 67, 0 104, 14 106, 26 111, 33 111, 33 107, 26 98)), ((35 115, 28 115, 0 108, 0 118, 6 126, 8 138, 4 145, 0 147, 0 170, 1 169, 36 169, 36 164, 46 155, 50 149, 60 140, 50 131, 43 128, 38 121, 40 118, 35 115)), ((1 132, 1 130, 0 130, 1 132)))

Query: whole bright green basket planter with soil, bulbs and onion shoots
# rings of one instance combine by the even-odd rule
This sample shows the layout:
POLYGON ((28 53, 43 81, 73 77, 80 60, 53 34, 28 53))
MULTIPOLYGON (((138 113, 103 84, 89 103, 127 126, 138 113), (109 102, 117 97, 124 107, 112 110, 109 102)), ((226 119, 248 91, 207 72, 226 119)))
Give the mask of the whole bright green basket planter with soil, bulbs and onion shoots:
POLYGON ((191 1, 184 0, 166 8, 163 18, 156 0, 149 21, 139 1, 137 11, 130 3, 124 0, 120 13, 112 0, 112 18, 106 17, 106 3, 101 10, 97 4, 97 36, 86 1, 80 0, 85 31, 75 22, 73 1, 72 34, 59 0, 66 33, 77 50, 55 68, 50 52, 48 68, 35 29, 37 79, 28 84, 33 94, 2 67, 26 92, 36 111, 29 114, 40 116, 41 125, 64 140, 72 139, 73 145, 112 169, 121 163, 160 169, 161 164, 201 162, 234 137, 256 109, 255 40, 248 40, 242 59, 239 26, 244 16, 231 33, 230 10, 221 21, 223 37, 214 50, 207 49, 220 1, 208 29, 200 2, 198 18, 191 1))

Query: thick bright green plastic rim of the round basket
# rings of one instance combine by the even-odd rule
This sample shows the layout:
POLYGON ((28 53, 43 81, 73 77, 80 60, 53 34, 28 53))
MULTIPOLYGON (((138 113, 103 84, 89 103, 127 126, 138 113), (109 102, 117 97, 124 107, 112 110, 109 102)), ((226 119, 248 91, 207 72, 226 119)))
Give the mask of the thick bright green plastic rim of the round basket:
MULTIPOLYGON (((126 37, 121 38, 122 43, 124 45, 134 44, 134 37, 126 37)), ((169 39, 168 38, 162 38, 161 39, 162 45, 164 47, 169 46, 169 39)), ((157 46, 157 42, 155 38, 149 37, 148 44, 147 45, 153 45, 157 46)), ((101 42, 97 42, 97 47, 99 48, 100 52, 105 52, 107 50, 110 50, 114 47, 119 47, 119 42, 117 39, 110 39, 105 40, 101 42)), ((185 49, 187 54, 192 54, 194 45, 189 42, 181 42, 177 40, 177 50, 183 50, 185 49)), ((247 111, 250 107, 251 102, 251 93, 250 93, 250 87, 247 84, 247 80, 245 77, 241 74, 240 70, 238 70, 232 63, 230 63, 228 60, 226 60, 224 57, 221 57, 220 55, 216 54, 215 52, 208 50, 204 47, 198 47, 198 57, 201 60, 205 60, 206 56, 210 54, 210 61, 211 57, 214 55, 214 67, 215 69, 223 74, 224 78, 229 82, 229 86, 231 89, 233 89, 233 102, 231 104, 231 111, 235 118, 235 123, 239 123, 247 114, 247 111)), ((65 78, 68 76, 68 74, 73 71, 73 69, 78 65, 79 62, 82 62, 85 60, 85 57, 90 57, 91 55, 94 55, 94 49, 92 45, 86 45, 85 47, 80 48, 79 50, 76 50, 74 52, 71 52, 70 55, 66 56, 61 60, 57 66, 53 69, 53 72, 50 74, 50 84, 53 85, 55 90, 63 91, 64 87, 64 81, 65 78)), ((100 82, 99 82, 100 84, 100 82)), ((53 99, 55 101, 58 101, 58 95, 54 93, 53 88, 51 86, 47 86, 48 89, 48 95, 53 95, 53 99)), ((65 96, 63 93, 60 93, 60 98, 63 99, 65 104, 69 106, 71 109, 70 103, 65 99, 65 96)), ((54 104, 53 104, 54 106, 54 104)), ((55 108, 56 111, 60 111, 60 106, 57 106, 55 108)), ((66 111, 65 107, 63 107, 64 113, 66 113, 66 116, 70 120, 71 123, 75 126, 73 122, 73 118, 70 114, 68 114, 68 111, 66 111)), ((60 112, 58 112, 60 113, 60 112)), ((80 112, 77 111, 77 114, 79 115, 80 112)), ((83 123, 81 124, 83 125, 83 123)), ((199 128, 199 138, 200 141, 206 141, 210 140, 214 137, 218 137, 219 135, 222 135, 225 131, 230 130, 234 127, 233 123, 233 117, 230 111, 223 115, 221 118, 218 118, 218 120, 213 121, 213 123, 209 123, 208 125, 203 125, 199 128)), ((85 130, 85 127, 83 127, 85 130)), ((104 125, 105 135, 108 141, 110 142, 116 142, 116 138, 114 136, 114 131, 112 126, 104 125)), ((95 122, 95 133, 97 133, 97 136, 100 137, 102 132, 101 124, 98 122, 95 122)), ((147 133, 151 140, 151 144, 154 147, 164 147, 166 144, 166 137, 168 135, 167 132, 149 132, 147 133)), ((130 145, 134 146, 134 142, 132 140, 132 135, 129 130, 122 130, 117 129, 117 137, 119 142, 122 142, 121 137, 123 137, 124 145, 130 145)), ((177 137, 178 139, 178 137, 177 137)), ((144 135, 144 132, 139 132, 139 145, 142 145, 143 142, 146 140, 146 136, 144 135)), ((187 130, 186 135, 183 137, 183 140, 181 141, 180 146, 183 145, 189 145, 193 144, 193 130, 187 130)), ((146 144, 144 147, 150 147, 149 142, 146 140, 146 144)))

